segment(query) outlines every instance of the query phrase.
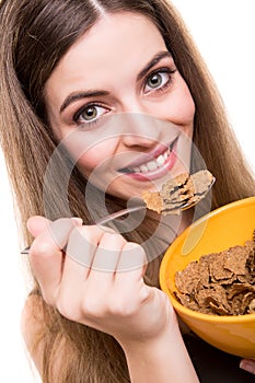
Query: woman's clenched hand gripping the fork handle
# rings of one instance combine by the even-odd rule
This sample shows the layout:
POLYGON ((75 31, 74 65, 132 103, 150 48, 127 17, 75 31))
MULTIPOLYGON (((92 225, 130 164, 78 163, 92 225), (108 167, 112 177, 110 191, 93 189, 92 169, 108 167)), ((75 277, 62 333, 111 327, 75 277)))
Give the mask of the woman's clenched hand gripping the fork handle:
POLYGON ((166 295, 143 282, 141 246, 73 219, 33 217, 27 228, 35 236, 30 259, 43 298, 65 317, 125 345, 178 330, 166 295))

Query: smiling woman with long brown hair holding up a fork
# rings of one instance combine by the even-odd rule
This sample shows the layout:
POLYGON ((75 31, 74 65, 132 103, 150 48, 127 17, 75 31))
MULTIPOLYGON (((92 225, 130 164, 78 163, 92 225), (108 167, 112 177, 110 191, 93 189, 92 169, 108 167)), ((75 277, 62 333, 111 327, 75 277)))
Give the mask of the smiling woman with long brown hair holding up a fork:
POLYGON ((254 195, 179 16, 164 0, 5 0, 1 30, 1 142, 35 277, 24 337, 43 381, 197 382, 154 288, 163 229, 192 213, 148 212, 123 235, 85 225, 102 199, 117 210, 200 162, 217 178, 212 208, 254 195))

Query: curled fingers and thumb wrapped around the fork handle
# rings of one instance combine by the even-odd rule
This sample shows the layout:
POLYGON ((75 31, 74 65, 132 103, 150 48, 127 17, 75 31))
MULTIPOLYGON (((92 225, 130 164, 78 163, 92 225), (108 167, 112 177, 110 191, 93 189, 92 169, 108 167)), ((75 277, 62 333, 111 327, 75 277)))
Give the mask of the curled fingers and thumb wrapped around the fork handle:
POLYGON ((148 295, 144 252, 120 234, 71 219, 35 217, 27 227, 36 235, 30 258, 43 297, 67 318, 105 329, 103 320, 136 312, 148 295))

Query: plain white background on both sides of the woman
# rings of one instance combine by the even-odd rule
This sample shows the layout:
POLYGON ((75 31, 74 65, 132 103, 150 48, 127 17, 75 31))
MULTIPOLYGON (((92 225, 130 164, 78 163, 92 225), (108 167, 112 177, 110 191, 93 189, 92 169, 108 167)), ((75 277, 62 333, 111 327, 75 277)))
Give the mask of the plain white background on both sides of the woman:
MULTIPOLYGON (((255 169, 254 0, 173 2, 181 11, 216 79, 241 147, 251 166, 255 169)), ((12 383, 19 380, 22 383, 32 383, 37 379, 31 372, 20 336, 25 281, 2 155, 0 179, 0 381, 12 383)))

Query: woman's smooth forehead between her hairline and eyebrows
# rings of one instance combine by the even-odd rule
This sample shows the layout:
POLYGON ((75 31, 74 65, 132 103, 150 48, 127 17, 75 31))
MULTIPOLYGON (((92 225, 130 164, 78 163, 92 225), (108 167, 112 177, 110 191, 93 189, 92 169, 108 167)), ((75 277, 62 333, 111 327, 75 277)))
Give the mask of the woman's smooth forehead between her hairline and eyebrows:
POLYGON ((148 18, 129 12, 104 14, 62 57, 46 91, 56 81, 76 86, 82 76, 86 86, 94 86, 91 82, 105 81, 113 73, 138 70, 157 49, 165 49, 165 44, 148 18))

